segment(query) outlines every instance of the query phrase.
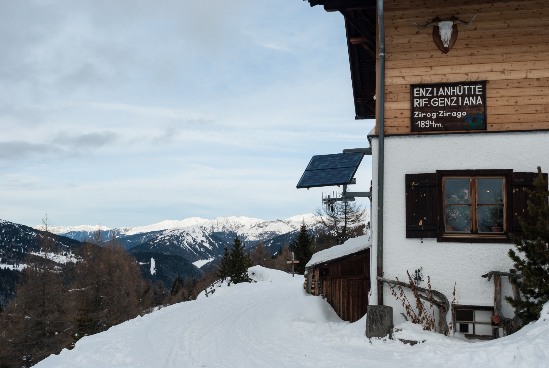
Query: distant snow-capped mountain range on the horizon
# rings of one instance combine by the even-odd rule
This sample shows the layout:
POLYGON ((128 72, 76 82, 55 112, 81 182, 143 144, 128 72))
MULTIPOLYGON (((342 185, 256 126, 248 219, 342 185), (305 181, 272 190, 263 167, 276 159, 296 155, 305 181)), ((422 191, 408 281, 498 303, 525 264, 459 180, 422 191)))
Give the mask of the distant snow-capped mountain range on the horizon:
MULTIPOLYGON (((131 253, 155 252, 180 255, 191 262, 217 258, 223 248, 230 246, 234 236, 238 235, 250 247, 259 241, 266 244, 278 244, 273 239, 282 235, 291 235, 301 226, 309 228, 317 225, 317 216, 305 214, 292 216, 285 220, 266 221, 247 216, 218 217, 212 220, 198 217, 181 221, 165 220, 158 224, 135 227, 108 228, 101 226, 103 236, 116 235, 131 253)), ((35 228, 41 229, 41 226, 35 228)), ((58 235, 84 240, 97 231, 99 225, 52 227, 48 230, 58 235)), ((286 240, 288 237, 284 237, 286 240)), ((277 246, 278 248, 278 246, 277 246)))

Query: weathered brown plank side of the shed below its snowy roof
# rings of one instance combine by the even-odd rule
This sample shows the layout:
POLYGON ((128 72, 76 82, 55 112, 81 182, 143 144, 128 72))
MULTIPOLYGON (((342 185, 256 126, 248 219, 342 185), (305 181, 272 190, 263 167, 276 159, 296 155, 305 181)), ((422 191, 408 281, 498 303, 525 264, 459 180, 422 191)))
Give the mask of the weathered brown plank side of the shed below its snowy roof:
POLYGON ((368 308, 370 291, 369 250, 323 269, 322 290, 335 313, 344 320, 360 320, 368 308))

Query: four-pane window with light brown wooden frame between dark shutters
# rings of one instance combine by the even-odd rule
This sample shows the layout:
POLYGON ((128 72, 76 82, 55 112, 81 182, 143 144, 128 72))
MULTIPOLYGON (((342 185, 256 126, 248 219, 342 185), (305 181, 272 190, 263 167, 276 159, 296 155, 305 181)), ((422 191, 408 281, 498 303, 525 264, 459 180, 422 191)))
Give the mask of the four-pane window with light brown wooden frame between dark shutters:
POLYGON ((443 177, 444 235, 505 237, 505 181, 503 176, 443 177))

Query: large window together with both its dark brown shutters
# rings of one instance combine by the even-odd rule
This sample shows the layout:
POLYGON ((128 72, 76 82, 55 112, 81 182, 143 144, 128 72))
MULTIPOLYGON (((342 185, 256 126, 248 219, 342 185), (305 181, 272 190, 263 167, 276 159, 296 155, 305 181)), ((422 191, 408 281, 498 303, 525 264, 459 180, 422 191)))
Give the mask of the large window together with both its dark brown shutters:
POLYGON ((523 236, 518 216, 530 219, 523 188, 535 172, 437 170, 406 174, 406 238, 439 242, 508 243, 523 236))

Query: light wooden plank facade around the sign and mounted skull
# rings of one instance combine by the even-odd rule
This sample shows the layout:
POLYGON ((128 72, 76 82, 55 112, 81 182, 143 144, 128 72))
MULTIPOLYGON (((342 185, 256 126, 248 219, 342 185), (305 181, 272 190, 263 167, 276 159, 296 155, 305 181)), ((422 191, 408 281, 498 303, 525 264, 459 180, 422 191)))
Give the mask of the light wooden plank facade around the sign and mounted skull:
POLYGON ((411 131, 410 84, 481 80, 486 132, 549 129, 549 0, 384 3, 386 135, 425 134, 411 131), (424 25, 452 15, 468 21, 478 12, 473 24, 457 25, 447 54, 435 46, 433 27, 419 30, 406 21, 424 25))

